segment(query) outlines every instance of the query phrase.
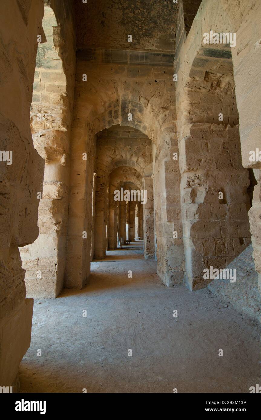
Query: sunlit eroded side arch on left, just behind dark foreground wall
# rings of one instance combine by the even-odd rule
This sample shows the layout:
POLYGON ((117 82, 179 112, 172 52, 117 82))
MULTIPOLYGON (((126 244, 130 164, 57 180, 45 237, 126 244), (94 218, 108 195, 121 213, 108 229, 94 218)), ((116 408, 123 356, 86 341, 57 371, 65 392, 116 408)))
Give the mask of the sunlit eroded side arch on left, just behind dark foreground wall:
MULTIPOLYGON (((69 201, 69 143, 74 95, 75 45, 71 17, 46 0, 38 44, 30 125, 34 147, 45 159, 39 236, 20 249, 29 297, 56 297, 63 287, 69 201), (62 26, 59 21, 62 20, 62 26)), ((41 192, 39 192, 41 193, 41 192)))

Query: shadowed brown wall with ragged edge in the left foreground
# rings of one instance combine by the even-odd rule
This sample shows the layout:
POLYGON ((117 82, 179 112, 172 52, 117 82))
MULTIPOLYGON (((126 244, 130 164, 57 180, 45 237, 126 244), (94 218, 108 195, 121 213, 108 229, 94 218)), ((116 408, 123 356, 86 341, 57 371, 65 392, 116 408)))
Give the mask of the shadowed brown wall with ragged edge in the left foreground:
POLYGON ((44 161, 33 147, 30 104, 37 35, 44 40, 43 12, 40 0, 0 4, 0 150, 13 152, 11 165, 0 162, 0 386, 13 386, 13 391, 31 340, 33 300, 25 299, 18 247, 39 233, 37 192, 42 191, 44 161))

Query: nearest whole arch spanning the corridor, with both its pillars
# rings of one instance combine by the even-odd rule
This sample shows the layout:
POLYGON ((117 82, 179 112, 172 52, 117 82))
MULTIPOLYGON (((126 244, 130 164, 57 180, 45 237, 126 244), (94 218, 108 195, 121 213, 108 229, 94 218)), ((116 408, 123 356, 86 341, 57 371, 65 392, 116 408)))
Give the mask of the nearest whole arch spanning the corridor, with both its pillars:
MULTIPOLYGON (((89 219, 96 134, 116 124, 140 130, 154 144, 154 195, 159 197, 155 203, 155 223, 158 226, 156 232, 158 274, 168 285, 183 281, 180 174, 178 160, 173 160, 173 153, 178 152, 178 144, 175 123, 175 85, 172 78, 171 66, 168 68, 154 66, 154 69, 137 66, 128 70, 125 65, 90 62, 79 57, 76 68, 74 122, 70 149, 71 190, 66 286, 79 284, 79 287, 82 287, 82 283, 90 274, 90 263, 85 259, 85 255, 89 254, 85 248, 89 240, 82 244, 81 254, 84 255, 86 263, 81 262, 82 258, 79 260, 79 252, 76 250, 79 249, 79 244, 76 247, 75 242, 81 241, 80 232, 86 230, 84 225, 89 219), (130 121, 129 113, 132 113, 130 121), (86 151, 90 153, 88 152, 87 160, 83 161, 82 153, 86 151), (173 241, 174 224, 179 232, 176 243, 173 241), (73 226, 79 226, 77 233, 75 228, 73 230, 73 226), (80 267, 75 269, 74 267, 78 265, 80 267), (75 278, 78 280, 75 281, 75 278)), ((96 197, 103 192, 104 182, 97 173, 96 197)), ((103 208, 103 204, 100 207, 103 208)))

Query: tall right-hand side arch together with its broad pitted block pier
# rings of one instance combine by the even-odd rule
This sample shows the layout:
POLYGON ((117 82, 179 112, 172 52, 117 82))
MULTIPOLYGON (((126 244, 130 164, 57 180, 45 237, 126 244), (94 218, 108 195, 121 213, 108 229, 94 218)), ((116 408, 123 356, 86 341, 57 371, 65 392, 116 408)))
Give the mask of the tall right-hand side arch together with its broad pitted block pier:
MULTIPOLYGON (((250 166, 243 141, 245 125, 249 129, 249 124, 242 112, 242 100, 246 104, 240 92, 246 63, 242 65, 241 59, 239 67, 237 57, 242 51, 242 27, 236 33, 235 47, 203 42, 204 33, 211 29, 218 33, 236 32, 242 23, 241 16, 235 26, 229 18, 232 11, 225 3, 203 0, 176 56, 182 220, 187 284, 191 289, 206 284, 202 281, 203 268, 223 268, 250 241, 249 176, 243 168, 250 166), (223 121, 218 120, 219 113, 223 114, 223 121), (217 199, 219 191, 224 192, 224 201, 217 199), (206 222, 208 231, 204 232, 206 222)), ((251 48, 247 56, 251 58, 251 48)), ((243 90, 247 92, 245 86, 243 90)))

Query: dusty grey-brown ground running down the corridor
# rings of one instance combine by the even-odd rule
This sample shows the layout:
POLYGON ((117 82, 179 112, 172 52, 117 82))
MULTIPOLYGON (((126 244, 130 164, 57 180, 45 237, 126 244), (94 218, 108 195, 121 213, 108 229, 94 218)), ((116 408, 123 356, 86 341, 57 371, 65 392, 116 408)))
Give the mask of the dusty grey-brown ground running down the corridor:
POLYGON ((249 392, 260 382, 257 324, 207 289, 163 286, 137 249, 108 252, 85 289, 40 302, 21 391, 249 392))

